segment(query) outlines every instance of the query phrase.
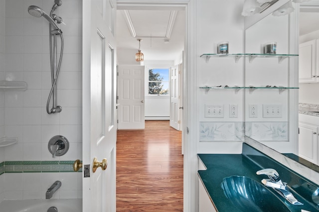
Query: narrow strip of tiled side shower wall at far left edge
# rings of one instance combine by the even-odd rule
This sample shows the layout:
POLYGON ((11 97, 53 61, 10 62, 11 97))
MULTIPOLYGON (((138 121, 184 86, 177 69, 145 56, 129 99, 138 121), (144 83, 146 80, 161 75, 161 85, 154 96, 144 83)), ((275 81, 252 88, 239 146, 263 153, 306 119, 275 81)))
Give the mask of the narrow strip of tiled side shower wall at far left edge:
MULTIPOLYGON (((4 79, 4 21, 5 1, 0 0, 0 80, 4 79)), ((4 93, 0 90, 0 138, 4 136, 4 93)), ((0 164, 4 161, 4 148, 0 147, 0 164)), ((4 198, 4 175, 0 170, 0 202, 4 198)))

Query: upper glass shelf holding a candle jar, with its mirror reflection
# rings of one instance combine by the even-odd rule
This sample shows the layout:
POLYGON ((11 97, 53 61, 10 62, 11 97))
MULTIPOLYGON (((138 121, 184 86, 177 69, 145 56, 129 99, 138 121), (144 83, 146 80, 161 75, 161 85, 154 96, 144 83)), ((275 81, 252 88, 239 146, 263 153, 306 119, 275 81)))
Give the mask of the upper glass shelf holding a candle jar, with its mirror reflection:
POLYGON ((281 63, 283 60, 289 57, 297 57, 299 55, 288 55, 288 54, 202 54, 200 57, 206 60, 208 63, 210 58, 223 58, 223 57, 233 57, 235 58, 235 63, 241 57, 248 57, 249 63, 252 63, 255 58, 278 58, 278 62, 281 63))

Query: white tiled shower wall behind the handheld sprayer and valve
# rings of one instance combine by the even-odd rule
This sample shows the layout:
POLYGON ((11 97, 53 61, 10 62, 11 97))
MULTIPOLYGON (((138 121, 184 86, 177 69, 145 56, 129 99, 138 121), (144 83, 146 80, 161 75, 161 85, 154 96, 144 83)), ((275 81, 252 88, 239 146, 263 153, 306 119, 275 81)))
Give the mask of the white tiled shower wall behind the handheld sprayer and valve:
MULTIPOLYGON (((64 37, 64 56, 57 82, 57 104, 62 112, 51 115, 45 109, 51 88, 49 24, 43 17, 31 16, 27 8, 37 5, 49 13, 54 0, 1 0, 1 4, 4 3, 5 7, 0 8, 1 15, 5 8, 5 72, 0 73, 0 79, 25 81, 28 87, 26 91, 2 92, 4 96, 0 93, 0 100, 4 100, 0 101, 4 136, 18 138, 17 144, 0 147, 0 161, 39 163, 81 159, 82 1, 62 0, 62 5, 54 12, 64 22, 59 24, 64 37), (56 135, 66 137, 70 148, 65 155, 52 158, 47 145, 56 135)), ((0 129, 1 124, 0 121, 0 129)), ((60 180, 62 186, 53 198, 82 197, 80 173, 27 170, 5 172, 0 180, 0 197, 2 194, 4 199, 42 199, 55 180, 60 180)))

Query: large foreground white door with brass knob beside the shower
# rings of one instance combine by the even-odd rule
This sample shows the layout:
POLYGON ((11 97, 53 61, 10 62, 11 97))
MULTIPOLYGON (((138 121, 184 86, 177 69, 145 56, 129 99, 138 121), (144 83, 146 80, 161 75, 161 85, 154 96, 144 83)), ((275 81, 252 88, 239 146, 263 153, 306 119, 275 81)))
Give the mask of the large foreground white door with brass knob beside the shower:
POLYGON ((83 0, 84 212, 116 211, 115 6, 114 0, 83 0), (107 159, 105 170, 93 172, 94 157, 107 159))

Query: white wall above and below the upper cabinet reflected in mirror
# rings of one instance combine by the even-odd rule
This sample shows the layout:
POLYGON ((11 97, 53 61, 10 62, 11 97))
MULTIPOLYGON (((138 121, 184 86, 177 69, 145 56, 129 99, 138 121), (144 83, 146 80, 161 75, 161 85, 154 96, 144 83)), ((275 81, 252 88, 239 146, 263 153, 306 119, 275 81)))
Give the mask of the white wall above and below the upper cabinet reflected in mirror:
MULTIPOLYGON (((319 39, 319 30, 299 37, 299 43, 319 39)), ((319 104, 319 98, 314 98, 314 91, 319 91, 319 83, 299 84, 299 102, 319 104)))

